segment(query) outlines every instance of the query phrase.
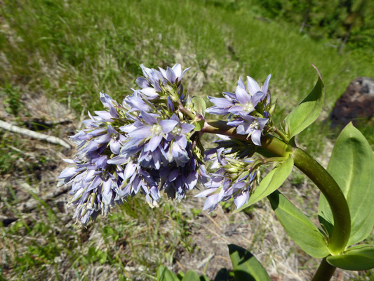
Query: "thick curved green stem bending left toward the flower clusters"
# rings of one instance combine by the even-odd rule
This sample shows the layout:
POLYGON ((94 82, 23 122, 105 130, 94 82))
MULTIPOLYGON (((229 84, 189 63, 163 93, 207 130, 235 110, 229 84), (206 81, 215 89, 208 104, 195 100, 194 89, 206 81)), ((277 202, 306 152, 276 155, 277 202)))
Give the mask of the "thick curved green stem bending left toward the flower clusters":
MULTIPOLYGON (((202 132, 219 133, 251 142, 246 136, 236 134, 234 127, 227 126, 226 122, 222 121, 206 122, 202 132)), ((270 135, 262 136, 261 146, 265 150, 281 157, 288 157, 288 155, 292 154, 295 166, 308 176, 325 195, 334 218, 334 230, 328 241, 328 249, 330 249, 331 254, 339 254, 344 251, 351 232, 351 218, 347 200, 345 200, 338 183, 335 182, 323 166, 300 148, 293 148, 279 138, 270 135)))

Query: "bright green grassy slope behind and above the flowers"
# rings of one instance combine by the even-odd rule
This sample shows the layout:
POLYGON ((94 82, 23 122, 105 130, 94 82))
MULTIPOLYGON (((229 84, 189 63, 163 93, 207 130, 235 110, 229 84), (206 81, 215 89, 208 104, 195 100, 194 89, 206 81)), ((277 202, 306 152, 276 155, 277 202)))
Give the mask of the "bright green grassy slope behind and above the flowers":
POLYGON ((197 89, 186 79, 201 96, 234 91, 239 76, 263 82, 271 73, 279 120, 312 89, 311 63, 326 85, 326 112, 352 79, 374 76, 370 63, 338 55, 300 36, 298 27, 255 19, 247 6, 230 1, 23 0, 6 1, 2 14, 2 84, 42 91, 77 114, 100 108, 100 91, 119 100, 131 93, 140 63, 165 67, 182 60, 192 66, 189 77, 203 74, 197 89))

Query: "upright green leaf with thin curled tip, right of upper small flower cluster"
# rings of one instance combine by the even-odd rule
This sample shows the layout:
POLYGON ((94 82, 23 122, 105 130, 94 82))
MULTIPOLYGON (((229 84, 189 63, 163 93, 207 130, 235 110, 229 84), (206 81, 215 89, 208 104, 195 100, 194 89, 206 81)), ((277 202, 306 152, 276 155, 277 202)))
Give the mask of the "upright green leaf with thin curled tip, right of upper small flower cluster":
POLYGON ((324 85, 319 70, 314 65, 312 66, 318 74, 318 81, 307 98, 302 100, 300 105, 286 117, 288 138, 292 138, 306 129, 321 113, 323 99, 325 98, 324 85))

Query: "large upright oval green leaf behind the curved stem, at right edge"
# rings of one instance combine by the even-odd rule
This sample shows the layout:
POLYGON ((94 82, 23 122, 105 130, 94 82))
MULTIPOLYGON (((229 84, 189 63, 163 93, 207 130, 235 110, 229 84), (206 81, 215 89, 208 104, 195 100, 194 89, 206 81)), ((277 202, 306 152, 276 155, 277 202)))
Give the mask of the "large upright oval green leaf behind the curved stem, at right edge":
MULTIPOLYGON (((327 171, 348 202, 352 228, 347 246, 361 242, 374 227, 374 155, 366 138, 352 123, 345 126, 336 140, 327 171)), ((333 215, 322 194, 319 218, 330 232, 333 215)))

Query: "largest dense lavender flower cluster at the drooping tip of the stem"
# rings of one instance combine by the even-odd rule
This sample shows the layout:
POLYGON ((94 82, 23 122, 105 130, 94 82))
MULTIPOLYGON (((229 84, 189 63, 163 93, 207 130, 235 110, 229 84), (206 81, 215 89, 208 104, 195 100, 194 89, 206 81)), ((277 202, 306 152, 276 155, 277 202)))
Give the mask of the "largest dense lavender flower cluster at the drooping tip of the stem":
POLYGON ((161 190, 181 200, 207 180, 200 136, 193 131, 196 112, 183 110, 189 98, 180 80, 188 69, 141 67, 140 89, 121 104, 100 93, 106 110, 89 114, 86 128, 71 137, 76 157, 66 160, 59 185, 72 185, 69 205, 82 225, 139 192, 154 207, 161 190))

